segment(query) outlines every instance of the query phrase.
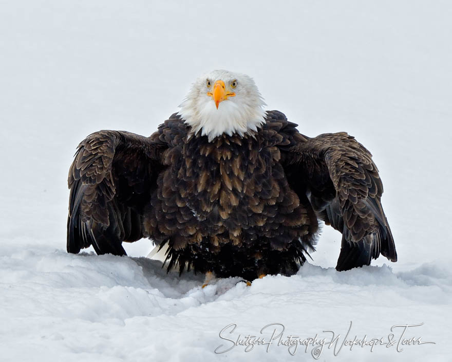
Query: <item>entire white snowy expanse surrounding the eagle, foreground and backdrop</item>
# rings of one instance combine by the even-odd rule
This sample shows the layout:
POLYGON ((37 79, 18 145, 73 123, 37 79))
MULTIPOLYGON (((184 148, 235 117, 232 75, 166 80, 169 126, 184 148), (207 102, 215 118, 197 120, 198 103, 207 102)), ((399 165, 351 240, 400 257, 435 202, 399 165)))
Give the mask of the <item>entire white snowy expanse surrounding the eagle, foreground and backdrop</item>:
POLYGON ((347 339, 424 323, 404 338, 436 344, 398 352, 399 327, 391 347, 325 345, 319 360, 452 360, 450 19, 446 1, 0 2, 0 359, 314 360, 318 345, 281 342, 331 330, 337 352, 352 322, 347 339), (399 262, 337 273, 327 228, 298 275, 251 287, 166 275, 139 257, 147 240, 133 257, 66 254, 78 142, 152 133, 213 68, 253 76, 302 133, 347 131, 372 151, 399 262), (270 323, 285 326, 271 345, 215 353, 239 334, 268 341, 270 323))

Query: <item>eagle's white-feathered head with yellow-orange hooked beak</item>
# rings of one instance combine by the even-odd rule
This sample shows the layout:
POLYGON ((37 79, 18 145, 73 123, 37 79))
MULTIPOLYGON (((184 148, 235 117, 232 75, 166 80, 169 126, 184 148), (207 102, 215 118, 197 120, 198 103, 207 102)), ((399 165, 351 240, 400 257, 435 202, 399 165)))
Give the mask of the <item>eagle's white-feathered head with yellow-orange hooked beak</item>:
POLYGON ((214 70, 199 77, 180 105, 179 115, 208 136, 209 142, 222 134, 243 136, 265 122, 262 96, 247 75, 228 70, 214 70))

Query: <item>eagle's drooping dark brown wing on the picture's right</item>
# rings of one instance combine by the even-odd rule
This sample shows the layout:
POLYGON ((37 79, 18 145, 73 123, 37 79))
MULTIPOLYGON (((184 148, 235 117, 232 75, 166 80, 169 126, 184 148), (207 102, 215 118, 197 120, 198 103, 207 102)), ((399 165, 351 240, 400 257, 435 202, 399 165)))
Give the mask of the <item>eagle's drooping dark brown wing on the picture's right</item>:
POLYGON ((290 144, 281 148, 289 183, 307 194, 320 219, 342 232, 336 269, 369 265, 380 254, 397 261, 380 201, 383 185, 370 152, 345 132, 315 138, 290 133, 290 144))

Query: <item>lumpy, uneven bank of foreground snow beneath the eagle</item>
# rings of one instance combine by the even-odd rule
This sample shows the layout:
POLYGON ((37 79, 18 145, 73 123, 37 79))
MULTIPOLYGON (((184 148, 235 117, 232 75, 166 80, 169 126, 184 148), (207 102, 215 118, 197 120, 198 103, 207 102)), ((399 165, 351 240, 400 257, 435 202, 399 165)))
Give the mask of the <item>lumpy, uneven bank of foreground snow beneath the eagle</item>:
MULTIPOLYGON (((267 276, 249 287, 240 278, 228 278, 201 288, 203 275, 167 274, 158 260, 71 255, 45 246, 3 251, 0 353, 6 360, 33 359, 36 353, 42 359, 56 353, 65 360, 165 360, 169 354, 175 360, 273 360, 290 357, 289 351, 255 346, 244 352, 237 346, 216 354, 219 346, 232 343, 225 345, 220 331, 237 323, 237 333, 231 334, 237 338, 281 323, 302 336, 334 329, 344 335, 350 319, 355 334, 379 337, 394 324, 423 322, 416 332, 437 344, 409 346, 400 353, 355 348, 341 351, 339 360, 393 353, 404 360, 424 353, 440 358, 445 348, 438 325, 452 304, 452 275, 432 263, 399 273, 386 265, 338 273, 305 264, 297 275, 267 276)), ((309 353, 297 350, 313 358, 309 353)), ((334 356, 327 348, 322 353, 334 356)))

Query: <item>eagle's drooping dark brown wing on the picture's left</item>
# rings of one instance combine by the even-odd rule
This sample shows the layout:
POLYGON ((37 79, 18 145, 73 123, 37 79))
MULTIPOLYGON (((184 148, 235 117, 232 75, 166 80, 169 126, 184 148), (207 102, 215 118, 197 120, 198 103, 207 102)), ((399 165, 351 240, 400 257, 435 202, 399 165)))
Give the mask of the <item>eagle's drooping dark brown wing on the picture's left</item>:
POLYGON ((69 170, 67 251, 92 245, 125 255, 123 241, 142 238, 142 212, 156 187, 164 143, 123 131, 84 139, 69 170))

